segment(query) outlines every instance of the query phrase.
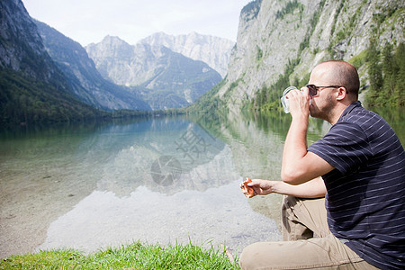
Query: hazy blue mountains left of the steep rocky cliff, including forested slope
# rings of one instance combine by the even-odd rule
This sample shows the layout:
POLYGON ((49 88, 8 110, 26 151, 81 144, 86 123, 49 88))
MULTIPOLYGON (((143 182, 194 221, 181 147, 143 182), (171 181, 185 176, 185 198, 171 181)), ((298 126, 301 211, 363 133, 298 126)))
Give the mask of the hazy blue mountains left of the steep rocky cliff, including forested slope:
MULTIPOLYGON (((156 39, 153 44, 144 40, 131 46, 107 36, 87 46, 94 57, 90 58, 75 40, 33 20, 21 0, 4 0, 0 7, 1 122, 72 121, 116 110, 179 108, 221 80, 208 64, 157 44, 156 39), (116 54, 106 49, 117 49, 116 54), (125 69, 128 65, 130 70, 125 69)), ((211 63, 224 72, 231 41, 197 33, 182 39, 192 47, 193 39, 198 41, 202 49, 198 53, 194 49, 193 54, 206 59, 210 52, 202 51, 216 48, 224 57, 211 54, 217 58, 211 63), (214 41, 221 41, 223 48, 215 47, 214 41)))

